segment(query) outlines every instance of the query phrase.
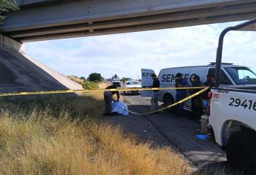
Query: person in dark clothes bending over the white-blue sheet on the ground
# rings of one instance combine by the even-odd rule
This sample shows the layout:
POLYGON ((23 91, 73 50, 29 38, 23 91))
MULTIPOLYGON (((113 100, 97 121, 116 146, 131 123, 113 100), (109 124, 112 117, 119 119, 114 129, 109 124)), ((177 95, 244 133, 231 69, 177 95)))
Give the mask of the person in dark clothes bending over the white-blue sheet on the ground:
MULTIPOLYGON (((109 85, 105 89, 116 89, 116 87, 119 87, 119 85, 109 85)), ((113 95, 116 94, 117 96, 117 102, 119 101, 119 92, 117 90, 115 91, 105 91, 104 92, 104 102, 105 102, 105 116, 111 115, 112 113, 112 101, 113 101, 113 95)))

